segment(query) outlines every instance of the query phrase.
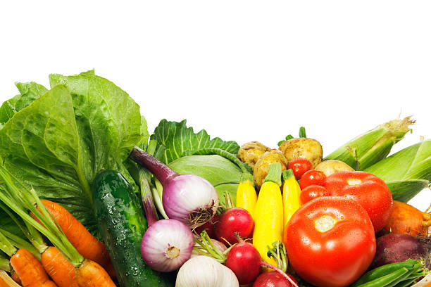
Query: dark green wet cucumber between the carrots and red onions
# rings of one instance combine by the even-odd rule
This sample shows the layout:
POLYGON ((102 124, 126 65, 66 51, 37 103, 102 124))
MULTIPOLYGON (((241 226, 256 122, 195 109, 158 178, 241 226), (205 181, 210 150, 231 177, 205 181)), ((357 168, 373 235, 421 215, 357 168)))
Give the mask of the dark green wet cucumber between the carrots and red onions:
POLYGON ((175 286, 172 274, 146 266, 141 241, 147 223, 139 199, 118 172, 105 170, 93 181, 94 215, 118 282, 123 287, 175 286))

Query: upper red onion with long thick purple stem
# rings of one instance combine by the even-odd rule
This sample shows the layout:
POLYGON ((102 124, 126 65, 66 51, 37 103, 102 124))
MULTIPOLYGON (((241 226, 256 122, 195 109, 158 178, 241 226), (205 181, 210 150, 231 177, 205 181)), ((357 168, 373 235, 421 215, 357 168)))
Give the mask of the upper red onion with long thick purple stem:
POLYGON ((194 174, 178 174, 140 148, 133 148, 130 158, 146 167, 163 185, 163 208, 169 218, 190 228, 207 222, 218 208, 218 194, 206 179, 194 174))

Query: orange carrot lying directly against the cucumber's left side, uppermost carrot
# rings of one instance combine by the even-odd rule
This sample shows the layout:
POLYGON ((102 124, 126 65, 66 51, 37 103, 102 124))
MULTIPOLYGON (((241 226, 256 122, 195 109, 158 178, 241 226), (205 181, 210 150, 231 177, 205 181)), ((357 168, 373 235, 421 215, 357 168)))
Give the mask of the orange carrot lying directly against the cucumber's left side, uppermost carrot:
MULTIPOLYGON (((92 236, 81 222, 73 217, 63 206, 50 200, 41 199, 40 201, 46 210, 51 213, 52 217, 54 217, 58 226, 64 232, 68 241, 76 248, 77 252, 85 258, 101 264, 102 267, 108 270, 111 260, 104 243, 101 243, 97 238, 92 236)), ((32 215, 32 217, 36 219, 35 215, 32 215)))

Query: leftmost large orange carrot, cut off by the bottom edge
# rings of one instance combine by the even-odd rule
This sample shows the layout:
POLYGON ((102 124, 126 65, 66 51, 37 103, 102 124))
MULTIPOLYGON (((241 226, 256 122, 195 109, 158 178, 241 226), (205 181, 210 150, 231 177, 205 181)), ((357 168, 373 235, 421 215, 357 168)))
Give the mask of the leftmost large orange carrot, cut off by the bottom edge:
POLYGON ((23 248, 11 257, 11 265, 24 287, 56 287, 39 260, 23 248))

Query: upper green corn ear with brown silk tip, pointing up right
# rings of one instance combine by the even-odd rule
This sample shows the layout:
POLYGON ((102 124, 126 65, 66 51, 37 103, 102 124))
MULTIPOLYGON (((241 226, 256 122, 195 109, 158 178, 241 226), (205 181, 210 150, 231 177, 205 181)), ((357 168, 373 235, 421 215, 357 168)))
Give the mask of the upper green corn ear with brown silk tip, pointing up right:
POLYGON ((367 167, 386 158, 392 146, 411 131, 414 124, 411 117, 396 119, 379 125, 370 131, 356 136, 336 151, 327 155, 324 160, 341 160, 355 170, 365 170, 367 167))

